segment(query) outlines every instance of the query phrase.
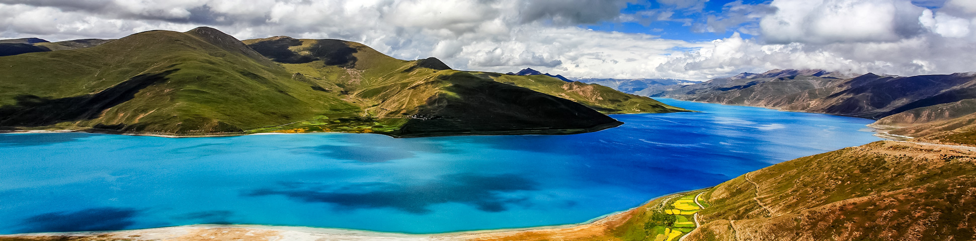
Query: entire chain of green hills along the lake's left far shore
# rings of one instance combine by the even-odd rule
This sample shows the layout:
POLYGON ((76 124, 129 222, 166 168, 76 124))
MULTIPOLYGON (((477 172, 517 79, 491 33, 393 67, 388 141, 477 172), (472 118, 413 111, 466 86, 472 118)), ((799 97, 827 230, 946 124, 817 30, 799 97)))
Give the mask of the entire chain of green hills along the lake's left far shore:
POLYGON ((686 111, 545 75, 459 71, 335 39, 239 41, 198 27, 117 40, 9 41, 0 126, 158 136, 264 132, 393 137, 574 134, 608 113, 686 111))

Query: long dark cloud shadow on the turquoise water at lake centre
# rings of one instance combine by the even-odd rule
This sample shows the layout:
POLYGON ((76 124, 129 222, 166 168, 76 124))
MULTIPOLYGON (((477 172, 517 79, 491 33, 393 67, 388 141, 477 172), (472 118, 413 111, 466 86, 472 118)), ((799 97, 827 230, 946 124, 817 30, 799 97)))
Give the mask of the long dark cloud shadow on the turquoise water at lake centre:
POLYGON ((526 197, 510 192, 535 190, 535 181, 515 175, 448 175, 417 184, 360 183, 329 186, 319 183, 281 183, 244 195, 282 195, 307 203, 329 203, 339 210, 391 208, 412 214, 427 214, 430 205, 462 203, 485 212, 502 212, 508 205, 527 204, 526 197))

